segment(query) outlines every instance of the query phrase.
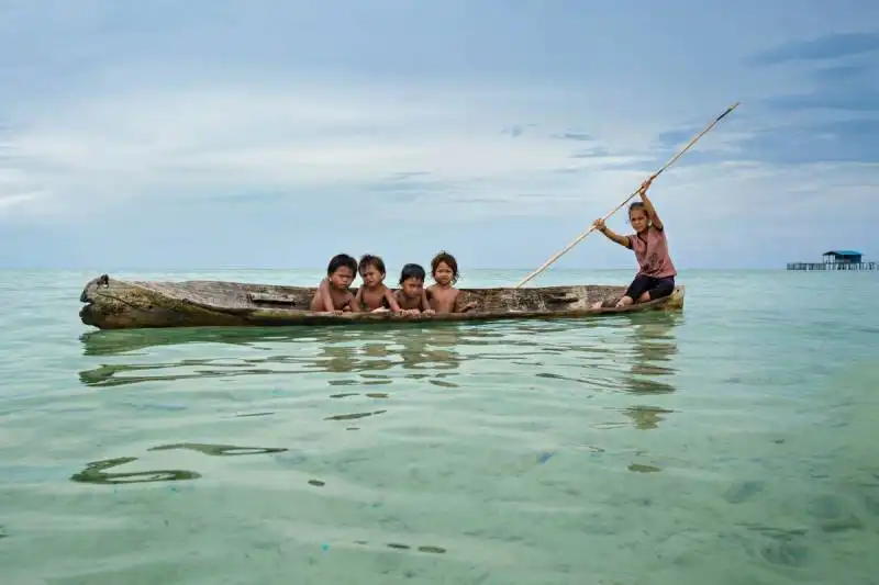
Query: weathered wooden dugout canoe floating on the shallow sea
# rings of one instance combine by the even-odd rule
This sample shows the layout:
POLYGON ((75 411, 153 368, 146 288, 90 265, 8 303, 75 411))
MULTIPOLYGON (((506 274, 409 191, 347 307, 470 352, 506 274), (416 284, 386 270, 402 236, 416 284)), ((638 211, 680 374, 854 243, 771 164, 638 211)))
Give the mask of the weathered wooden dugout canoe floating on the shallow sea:
POLYGON ((222 281, 122 281, 107 274, 86 284, 82 323, 101 329, 142 327, 346 325, 387 322, 486 322, 528 318, 583 318, 641 311, 680 311, 683 286, 671 296, 625 308, 591 308, 619 299, 625 286, 578 284, 534 289, 461 289, 467 313, 401 316, 390 313, 332 315, 309 311, 313 286, 222 281))

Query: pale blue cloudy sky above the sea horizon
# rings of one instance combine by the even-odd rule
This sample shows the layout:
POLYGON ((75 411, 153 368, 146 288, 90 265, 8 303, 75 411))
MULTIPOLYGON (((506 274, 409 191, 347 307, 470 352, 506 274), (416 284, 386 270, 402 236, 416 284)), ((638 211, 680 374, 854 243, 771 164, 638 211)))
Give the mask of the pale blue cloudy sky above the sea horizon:
POLYGON ((879 259, 879 2, 0 0, 0 268, 533 269, 737 101, 678 269, 879 259))

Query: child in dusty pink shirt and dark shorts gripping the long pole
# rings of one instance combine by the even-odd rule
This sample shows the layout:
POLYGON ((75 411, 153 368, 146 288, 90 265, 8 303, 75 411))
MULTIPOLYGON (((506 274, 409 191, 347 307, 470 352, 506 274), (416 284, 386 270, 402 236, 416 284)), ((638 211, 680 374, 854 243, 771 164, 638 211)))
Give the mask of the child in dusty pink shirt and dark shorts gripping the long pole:
MULTIPOLYGON (((628 206, 628 222, 635 229, 633 235, 621 236, 605 226, 602 220, 594 222, 596 228, 609 239, 634 251, 638 262, 638 272, 623 297, 616 302, 617 307, 661 299, 675 290, 675 275, 678 272, 668 254, 665 226, 647 198, 652 182, 653 178, 642 183, 641 201, 628 206)), ((592 306, 598 308, 601 303, 592 306)))

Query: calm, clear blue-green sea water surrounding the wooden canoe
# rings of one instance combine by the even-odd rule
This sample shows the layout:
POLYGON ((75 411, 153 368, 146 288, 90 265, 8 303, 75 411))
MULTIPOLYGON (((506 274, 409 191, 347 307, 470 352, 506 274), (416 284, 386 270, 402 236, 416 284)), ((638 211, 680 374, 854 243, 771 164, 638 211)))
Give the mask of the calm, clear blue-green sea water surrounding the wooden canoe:
POLYGON ((879 583, 879 273, 683 272, 677 316, 89 333, 98 273, 0 272, 3 584, 879 583))

